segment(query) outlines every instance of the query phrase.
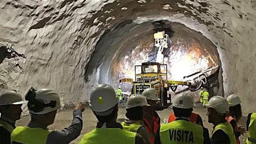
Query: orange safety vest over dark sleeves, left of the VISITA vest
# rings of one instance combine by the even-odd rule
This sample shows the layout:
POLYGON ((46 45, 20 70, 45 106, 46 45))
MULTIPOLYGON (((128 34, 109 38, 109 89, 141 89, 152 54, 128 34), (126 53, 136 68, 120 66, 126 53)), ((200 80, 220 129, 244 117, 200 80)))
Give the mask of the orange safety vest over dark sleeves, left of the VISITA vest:
POLYGON ((144 118, 144 123, 145 123, 145 128, 147 129, 147 133, 149 136, 149 141, 151 144, 154 144, 156 136, 157 136, 157 132, 160 128, 160 118, 158 116, 153 115, 153 124, 154 124, 153 128, 150 127, 150 123, 147 120, 147 118, 144 118))

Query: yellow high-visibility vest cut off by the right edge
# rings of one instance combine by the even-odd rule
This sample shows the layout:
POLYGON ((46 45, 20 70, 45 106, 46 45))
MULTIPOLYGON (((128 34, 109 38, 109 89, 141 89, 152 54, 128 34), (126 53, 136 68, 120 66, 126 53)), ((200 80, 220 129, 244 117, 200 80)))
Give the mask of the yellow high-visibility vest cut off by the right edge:
POLYGON ((252 113, 248 127, 246 144, 256 144, 256 113, 252 113))

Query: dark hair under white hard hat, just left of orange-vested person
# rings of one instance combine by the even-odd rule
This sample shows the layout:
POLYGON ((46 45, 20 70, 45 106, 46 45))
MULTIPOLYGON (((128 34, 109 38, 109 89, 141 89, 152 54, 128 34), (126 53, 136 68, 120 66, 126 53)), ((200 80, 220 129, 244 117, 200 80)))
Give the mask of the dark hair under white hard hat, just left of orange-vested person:
POLYGON ((142 120, 143 119, 143 107, 137 106, 131 109, 126 109, 125 114, 129 120, 142 120))

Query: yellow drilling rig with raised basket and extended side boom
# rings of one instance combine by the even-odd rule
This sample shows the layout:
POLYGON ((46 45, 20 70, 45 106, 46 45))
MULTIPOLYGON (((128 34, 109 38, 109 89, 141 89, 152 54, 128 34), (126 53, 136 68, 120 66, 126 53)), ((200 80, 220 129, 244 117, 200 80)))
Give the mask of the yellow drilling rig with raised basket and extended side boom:
POLYGON ((135 66, 135 81, 131 78, 120 79, 121 82, 132 83, 131 94, 141 94, 146 88, 157 90, 157 96, 161 99, 158 104, 158 110, 168 108, 171 105, 171 95, 169 89, 173 92, 179 85, 187 86, 187 90, 196 91, 207 84, 207 77, 214 74, 219 66, 208 67, 205 70, 195 72, 189 76, 183 77, 180 81, 167 79, 167 65, 163 63, 163 48, 167 48, 168 35, 163 32, 154 34, 155 46, 159 47, 157 62, 146 62, 135 66))

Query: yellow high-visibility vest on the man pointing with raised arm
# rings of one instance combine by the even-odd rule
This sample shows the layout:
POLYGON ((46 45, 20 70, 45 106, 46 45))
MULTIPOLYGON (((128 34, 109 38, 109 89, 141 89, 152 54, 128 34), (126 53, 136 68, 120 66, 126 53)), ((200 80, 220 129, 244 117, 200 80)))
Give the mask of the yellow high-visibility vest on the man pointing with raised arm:
POLYGON ((16 127, 11 134, 11 141, 24 144, 46 144, 49 133, 42 128, 16 127))

